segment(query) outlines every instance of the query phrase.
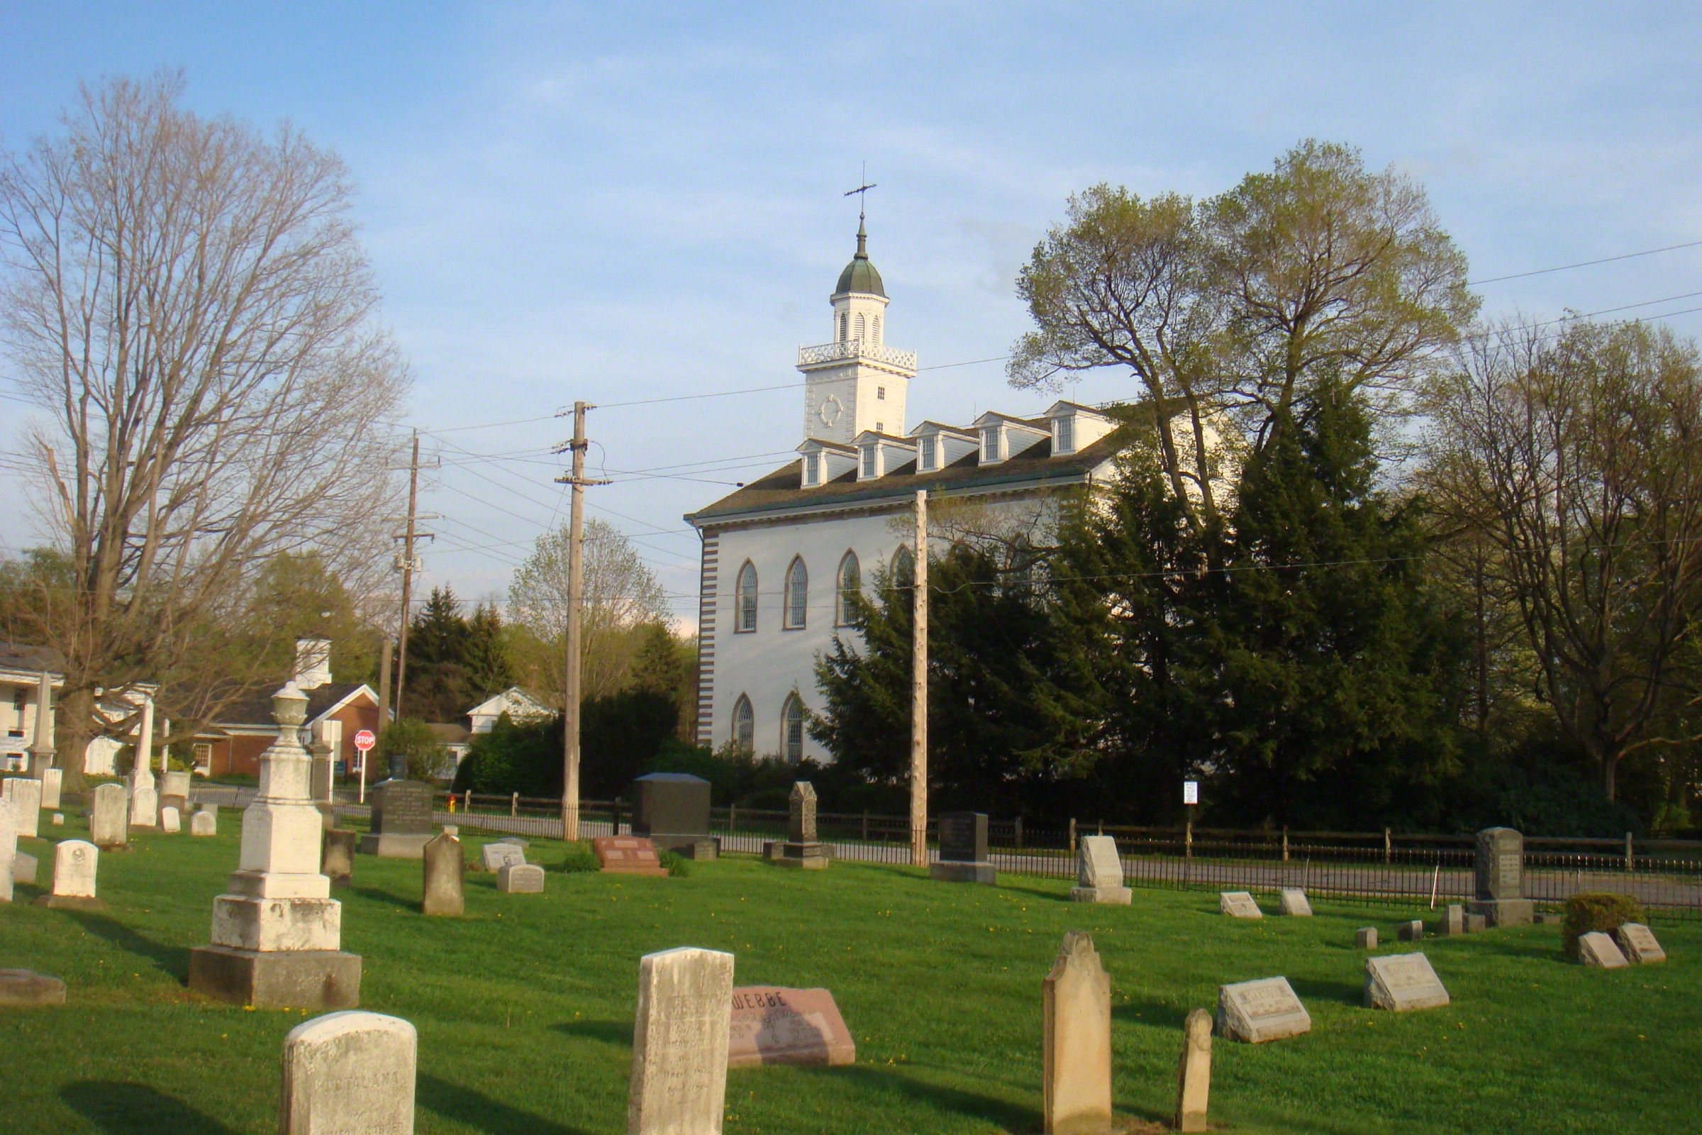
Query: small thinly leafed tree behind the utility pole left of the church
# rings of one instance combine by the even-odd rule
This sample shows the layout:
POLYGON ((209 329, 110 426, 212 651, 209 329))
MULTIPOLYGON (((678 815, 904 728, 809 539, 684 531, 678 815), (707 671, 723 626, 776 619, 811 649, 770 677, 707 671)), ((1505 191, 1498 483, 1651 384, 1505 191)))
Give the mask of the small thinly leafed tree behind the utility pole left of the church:
MULTIPOLYGON (((567 676, 567 551, 565 526, 545 533, 509 584, 511 618, 545 643, 558 693, 567 676)), ((667 594, 626 534, 608 521, 585 521, 584 696, 623 689, 643 645, 642 628, 667 621, 667 594)))

